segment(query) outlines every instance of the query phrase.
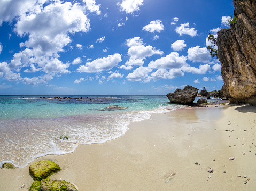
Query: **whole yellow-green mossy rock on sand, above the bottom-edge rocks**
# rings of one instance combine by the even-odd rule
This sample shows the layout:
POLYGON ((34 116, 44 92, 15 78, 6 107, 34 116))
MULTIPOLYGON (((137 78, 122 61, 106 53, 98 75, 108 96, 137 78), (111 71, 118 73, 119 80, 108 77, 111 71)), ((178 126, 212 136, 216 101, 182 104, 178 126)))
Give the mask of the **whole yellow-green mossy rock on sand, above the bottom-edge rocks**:
POLYGON ((49 160, 37 161, 29 166, 29 172, 35 181, 42 180, 59 170, 59 165, 49 160))

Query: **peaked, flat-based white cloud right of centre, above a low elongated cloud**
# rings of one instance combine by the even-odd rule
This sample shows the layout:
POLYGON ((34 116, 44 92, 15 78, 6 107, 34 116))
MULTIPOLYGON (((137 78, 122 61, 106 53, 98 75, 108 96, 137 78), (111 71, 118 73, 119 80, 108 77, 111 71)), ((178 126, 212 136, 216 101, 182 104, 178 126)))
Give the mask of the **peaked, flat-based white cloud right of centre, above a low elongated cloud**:
POLYGON ((187 58, 185 56, 179 56, 179 53, 172 52, 166 57, 161 57, 156 61, 151 61, 149 63, 149 68, 165 68, 165 69, 173 69, 173 68, 181 68, 183 65, 186 65, 187 58))

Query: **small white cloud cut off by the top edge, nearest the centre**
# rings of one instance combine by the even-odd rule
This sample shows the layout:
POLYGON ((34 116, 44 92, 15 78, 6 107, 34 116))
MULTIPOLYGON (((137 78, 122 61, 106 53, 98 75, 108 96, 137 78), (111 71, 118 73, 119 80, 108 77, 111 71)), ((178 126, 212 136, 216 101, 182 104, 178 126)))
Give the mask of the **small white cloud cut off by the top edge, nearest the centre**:
POLYGON ((118 2, 121 11, 125 11, 127 14, 133 14, 134 11, 138 11, 139 7, 143 5, 144 0, 123 0, 122 3, 118 2))

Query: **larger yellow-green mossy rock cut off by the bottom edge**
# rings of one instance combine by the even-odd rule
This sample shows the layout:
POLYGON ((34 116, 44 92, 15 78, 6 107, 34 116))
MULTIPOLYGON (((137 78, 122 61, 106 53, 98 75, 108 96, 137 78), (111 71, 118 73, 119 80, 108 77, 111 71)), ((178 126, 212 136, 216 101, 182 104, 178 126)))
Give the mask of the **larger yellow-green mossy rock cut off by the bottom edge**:
POLYGON ((52 180, 43 179, 41 180, 41 190, 42 191, 78 191, 74 185, 65 180, 52 180))

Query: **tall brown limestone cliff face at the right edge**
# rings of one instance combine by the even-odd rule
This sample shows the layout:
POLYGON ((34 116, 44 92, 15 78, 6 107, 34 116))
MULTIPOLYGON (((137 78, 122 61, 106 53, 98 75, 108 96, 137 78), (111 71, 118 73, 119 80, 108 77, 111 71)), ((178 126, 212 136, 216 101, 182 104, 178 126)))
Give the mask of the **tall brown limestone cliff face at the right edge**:
POLYGON ((223 94, 231 101, 256 105, 256 2, 233 0, 236 24, 218 32, 223 94))

